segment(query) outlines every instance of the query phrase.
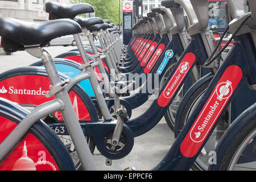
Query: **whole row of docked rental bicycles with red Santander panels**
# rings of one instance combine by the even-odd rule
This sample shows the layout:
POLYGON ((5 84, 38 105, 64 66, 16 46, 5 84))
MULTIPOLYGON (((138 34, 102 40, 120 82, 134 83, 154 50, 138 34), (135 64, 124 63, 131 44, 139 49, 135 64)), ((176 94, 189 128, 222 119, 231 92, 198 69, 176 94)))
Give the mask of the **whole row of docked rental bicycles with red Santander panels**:
POLYGON ((256 1, 227 0, 225 30, 210 30, 208 3, 163 0, 127 45, 109 20, 78 16, 88 3, 47 2, 46 22, 0 16, 3 49, 40 59, 0 74, 0 169, 96 170, 96 147, 110 166, 164 117, 175 141, 152 170, 255 170, 256 1), (51 57, 64 35, 77 48, 51 57))

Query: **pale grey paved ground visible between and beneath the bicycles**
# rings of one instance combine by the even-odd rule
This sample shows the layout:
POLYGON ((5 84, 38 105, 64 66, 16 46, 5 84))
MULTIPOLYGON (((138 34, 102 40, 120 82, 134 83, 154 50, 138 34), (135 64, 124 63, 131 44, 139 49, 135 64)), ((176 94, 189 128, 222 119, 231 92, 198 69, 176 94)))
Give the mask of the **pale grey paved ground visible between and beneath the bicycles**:
MULTIPOLYGON (((52 57, 73 49, 68 46, 47 47, 47 51, 52 57)), ((0 73, 9 69, 28 66, 38 59, 32 57, 27 52, 15 52, 10 56, 0 56, 1 67, 0 73)), ((135 118, 150 106, 152 100, 146 102, 141 107, 133 110, 132 118, 135 118)), ((99 170, 123 170, 126 167, 133 166, 138 170, 150 170, 163 159, 171 144, 174 142, 174 134, 169 129, 164 118, 148 133, 135 138, 133 150, 125 158, 114 160, 112 166, 105 165, 105 158, 101 156, 97 150, 93 156, 96 161, 97 169, 99 170)))

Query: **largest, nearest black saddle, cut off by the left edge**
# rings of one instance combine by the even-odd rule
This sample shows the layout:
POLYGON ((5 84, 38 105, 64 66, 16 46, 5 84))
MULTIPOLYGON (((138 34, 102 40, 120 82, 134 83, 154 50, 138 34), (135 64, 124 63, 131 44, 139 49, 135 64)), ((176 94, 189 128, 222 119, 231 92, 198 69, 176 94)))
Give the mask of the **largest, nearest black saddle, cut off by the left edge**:
POLYGON ((24 46, 44 46, 44 43, 60 36, 82 32, 79 24, 71 19, 35 23, 0 17, 0 27, 2 45, 6 52, 24 50, 24 46))

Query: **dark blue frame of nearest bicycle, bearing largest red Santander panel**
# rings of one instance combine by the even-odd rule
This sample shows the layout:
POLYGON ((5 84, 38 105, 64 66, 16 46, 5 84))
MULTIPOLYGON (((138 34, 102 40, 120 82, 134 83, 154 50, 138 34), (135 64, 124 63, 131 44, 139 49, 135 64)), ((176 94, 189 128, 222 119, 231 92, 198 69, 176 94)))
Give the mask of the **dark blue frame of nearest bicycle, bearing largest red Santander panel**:
POLYGON ((250 34, 237 36, 194 113, 156 170, 188 170, 246 78, 256 84, 255 47, 250 34), (184 165, 185 164, 185 165, 184 165))

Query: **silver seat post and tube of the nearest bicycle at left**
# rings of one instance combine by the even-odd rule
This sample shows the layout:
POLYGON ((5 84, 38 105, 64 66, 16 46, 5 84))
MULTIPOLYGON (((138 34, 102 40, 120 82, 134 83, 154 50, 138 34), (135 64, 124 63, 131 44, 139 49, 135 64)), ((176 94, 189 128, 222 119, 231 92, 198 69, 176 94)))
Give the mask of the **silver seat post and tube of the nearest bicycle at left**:
POLYGON ((67 89, 67 81, 61 81, 59 73, 55 67, 53 59, 51 55, 40 47, 25 47, 25 50, 30 53, 32 56, 41 58, 43 60, 44 67, 46 68, 47 75, 49 80, 51 81, 50 88, 52 95, 55 95, 55 99, 61 100, 64 103, 64 108, 61 110, 61 114, 63 115, 63 119, 65 125, 67 126, 69 135, 75 144, 77 154, 82 163, 82 167, 85 170, 96 170, 96 166, 92 159, 92 154, 90 153, 90 149, 88 144, 86 143, 86 139, 84 137, 84 133, 82 132, 79 120, 73 109, 73 105, 69 98, 67 89), (54 90, 54 92, 53 92, 54 90))

